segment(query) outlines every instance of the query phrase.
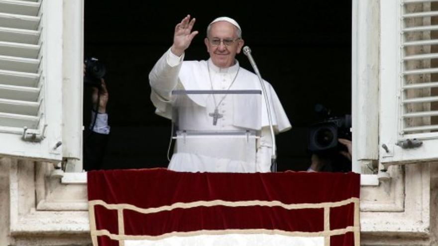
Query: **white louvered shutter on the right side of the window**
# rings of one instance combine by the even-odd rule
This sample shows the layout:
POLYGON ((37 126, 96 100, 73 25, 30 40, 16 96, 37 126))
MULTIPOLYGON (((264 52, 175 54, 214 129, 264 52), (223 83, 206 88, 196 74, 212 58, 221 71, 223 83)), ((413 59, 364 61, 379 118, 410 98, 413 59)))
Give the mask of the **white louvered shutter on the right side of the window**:
POLYGON ((438 160, 438 2, 381 1, 382 163, 438 160))

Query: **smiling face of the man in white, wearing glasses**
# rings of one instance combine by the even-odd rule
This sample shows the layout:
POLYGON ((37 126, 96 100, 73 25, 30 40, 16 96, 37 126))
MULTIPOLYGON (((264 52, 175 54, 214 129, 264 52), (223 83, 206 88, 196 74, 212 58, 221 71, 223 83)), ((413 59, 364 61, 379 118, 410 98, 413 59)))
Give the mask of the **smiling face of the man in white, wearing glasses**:
POLYGON ((237 27, 226 21, 213 23, 204 42, 213 64, 219 68, 234 65, 234 57, 244 44, 242 39, 237 39, 237 27))

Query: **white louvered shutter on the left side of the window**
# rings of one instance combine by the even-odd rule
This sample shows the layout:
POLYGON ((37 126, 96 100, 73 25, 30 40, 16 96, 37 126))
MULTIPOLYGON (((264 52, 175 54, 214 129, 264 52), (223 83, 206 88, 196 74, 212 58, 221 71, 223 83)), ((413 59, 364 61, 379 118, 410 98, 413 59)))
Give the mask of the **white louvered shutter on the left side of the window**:
POLYGON ((0 155, 62 159, 62 0, 0 0, 0 155))

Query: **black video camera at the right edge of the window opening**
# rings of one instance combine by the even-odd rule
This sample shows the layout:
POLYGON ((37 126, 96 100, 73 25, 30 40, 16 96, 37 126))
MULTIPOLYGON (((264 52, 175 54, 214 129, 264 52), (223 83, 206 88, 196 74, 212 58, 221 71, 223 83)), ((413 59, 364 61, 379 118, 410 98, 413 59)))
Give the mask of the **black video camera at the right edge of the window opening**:
POLYGON ((351 141, 351 115, 331 117, 313 124, 309 129, 309 150, 312 153, 346 151, 337 139, 351 141))

